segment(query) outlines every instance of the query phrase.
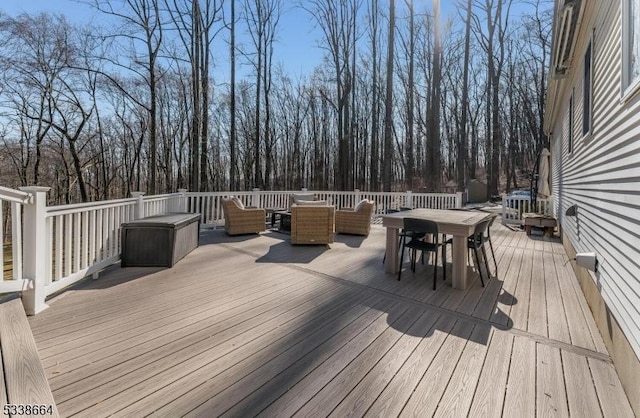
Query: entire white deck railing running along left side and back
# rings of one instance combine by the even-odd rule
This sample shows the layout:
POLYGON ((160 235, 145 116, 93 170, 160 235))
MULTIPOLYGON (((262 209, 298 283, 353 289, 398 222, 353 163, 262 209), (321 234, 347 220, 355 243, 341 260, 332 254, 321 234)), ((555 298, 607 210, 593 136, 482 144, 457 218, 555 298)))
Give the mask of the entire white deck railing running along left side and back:
MULTIPOLYGON (((46 308, 45 298, 117 262, 121 253, 121 225, 135 219, 167 212, 200 213, 202 224, 222 225, 221 200, 238 196, 248 206, 287 208, 295 191, 192 192, 179 190, 157 196, 133 193, 119 200, 46 206, 48 187, 25 187, 22 191, 0 187, 2 202, 11 205, 10 260, 12 275, 0 281, 0 293, 22 292, 28 314, 46 308)), ((338 208, 353 207, 361 199, 375 202, 375 213, 400 207, 454 208, 462 206, 462 194, 373 193, 303 191, 313 193, 338 208)), ((2 219, 5 219, 4 217, 2 219)), ((2 231, 0 241, 4 242, 2 231)))

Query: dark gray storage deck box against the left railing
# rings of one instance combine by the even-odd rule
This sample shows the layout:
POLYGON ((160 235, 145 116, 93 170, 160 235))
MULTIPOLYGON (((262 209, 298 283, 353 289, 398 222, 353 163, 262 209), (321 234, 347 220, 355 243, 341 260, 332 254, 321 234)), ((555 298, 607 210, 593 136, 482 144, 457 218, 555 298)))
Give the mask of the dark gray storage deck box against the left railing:
POLYGON ((198 246, 200 215, 167 213, 122 224, 122 267, 172 267, 198 246))

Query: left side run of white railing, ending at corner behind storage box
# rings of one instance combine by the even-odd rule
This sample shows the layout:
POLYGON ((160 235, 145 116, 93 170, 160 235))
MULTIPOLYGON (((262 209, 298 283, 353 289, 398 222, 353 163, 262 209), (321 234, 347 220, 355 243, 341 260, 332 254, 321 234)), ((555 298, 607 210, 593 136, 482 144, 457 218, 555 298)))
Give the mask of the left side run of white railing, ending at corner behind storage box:
MULTIPOLYGON (((0 293, 22 292, 28 314, 46 308, 47 296, 117 262, 122 223, 183 211, 186 202, 184 193, 134 193, 128 199, 47 207, 48 190, 0 188, 0 214, 1 202, 10 202, 12 230, 11 259, 2 262, 3 270, 12 264, 12 276, 0 281, 0 293)), ((0 239, 4 242, 1 231, 0 239)))

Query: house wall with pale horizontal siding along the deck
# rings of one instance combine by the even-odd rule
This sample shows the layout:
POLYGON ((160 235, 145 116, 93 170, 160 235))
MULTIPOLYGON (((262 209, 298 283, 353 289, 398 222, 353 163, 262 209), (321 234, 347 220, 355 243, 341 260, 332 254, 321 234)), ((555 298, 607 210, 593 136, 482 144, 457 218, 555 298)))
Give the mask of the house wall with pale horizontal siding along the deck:
POLYGON ((621 37, 621 2, 586 2, 571 69, 567 77, 555 81, 554 97, 549 98, 555 100, 549 124, 552 189, 568 254, 597 255, 596 273, 575 264, 574 268, 634 411, 640 415, 640 92, 622 97, 621 37), (584 136, 583 62, 589 40, 593 123, 584 136), (574 123, 570 127, 572 93, 574 123), (574 204, 577 216, 565 216, 574 204))

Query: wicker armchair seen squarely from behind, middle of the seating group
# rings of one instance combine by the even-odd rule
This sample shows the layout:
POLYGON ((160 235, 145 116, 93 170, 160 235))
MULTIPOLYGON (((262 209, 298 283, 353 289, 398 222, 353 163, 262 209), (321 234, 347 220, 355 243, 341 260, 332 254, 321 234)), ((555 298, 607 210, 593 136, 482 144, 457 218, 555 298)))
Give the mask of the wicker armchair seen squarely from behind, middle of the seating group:
POLYGON ((292 205, 291 243, 330 244, 334 235, 333 206, 292 205))

